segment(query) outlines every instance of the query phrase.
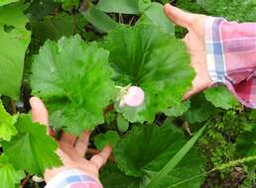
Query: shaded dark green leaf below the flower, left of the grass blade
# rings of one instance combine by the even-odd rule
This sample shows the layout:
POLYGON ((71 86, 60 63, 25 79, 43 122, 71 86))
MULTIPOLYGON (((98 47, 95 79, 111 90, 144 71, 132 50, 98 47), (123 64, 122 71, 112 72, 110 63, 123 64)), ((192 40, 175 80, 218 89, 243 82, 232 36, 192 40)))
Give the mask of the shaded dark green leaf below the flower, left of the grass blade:
POLYGON ((173 127, 174 125, 162 128, 156 125, 133 127, 114 149, 119 168, 127 175, 139 177, 151 162, 165 164, 166 159, 161 160, 163 156, 172 156, 185 143, 178 139, 182 134, 173 127))

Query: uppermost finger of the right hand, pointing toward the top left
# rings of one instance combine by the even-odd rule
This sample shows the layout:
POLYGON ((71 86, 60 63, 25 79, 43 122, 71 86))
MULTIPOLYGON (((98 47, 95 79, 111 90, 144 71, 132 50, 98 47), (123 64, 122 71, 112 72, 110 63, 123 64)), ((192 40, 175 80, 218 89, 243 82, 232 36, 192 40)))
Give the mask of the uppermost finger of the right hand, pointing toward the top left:
POLYGON ((175 24, 184 28, 190 29, 194 20, 194 14, 183 11, 170 4, 166 4, 164 7, 166 15, 175 24))

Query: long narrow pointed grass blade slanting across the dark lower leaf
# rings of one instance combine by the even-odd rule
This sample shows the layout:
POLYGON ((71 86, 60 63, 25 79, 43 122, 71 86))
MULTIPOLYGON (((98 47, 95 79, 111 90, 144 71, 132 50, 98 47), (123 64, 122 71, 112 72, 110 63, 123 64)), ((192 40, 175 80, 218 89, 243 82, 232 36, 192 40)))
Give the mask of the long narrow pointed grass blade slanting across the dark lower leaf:
POLYGON ((205 130, 205 126, 202 127, 190 141, 188 141, 176 154, 175 156, 159 171, 157 174, 151 178, 150 183, 146 188, 157 188, 159 183, 163 181, 164 178, 172 171, 174 168, 182 161, 186 154, 192 149, 195 141, 199 139, 205 130))

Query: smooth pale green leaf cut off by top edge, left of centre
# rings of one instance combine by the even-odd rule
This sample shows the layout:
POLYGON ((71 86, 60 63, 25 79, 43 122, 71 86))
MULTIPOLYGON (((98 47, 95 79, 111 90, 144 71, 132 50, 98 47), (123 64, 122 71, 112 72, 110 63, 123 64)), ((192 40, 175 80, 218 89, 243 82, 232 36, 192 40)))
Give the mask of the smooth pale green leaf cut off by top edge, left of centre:
POLYGON ((107 13, 139 14, 139 0, 99 0, 97 8, 107 13))

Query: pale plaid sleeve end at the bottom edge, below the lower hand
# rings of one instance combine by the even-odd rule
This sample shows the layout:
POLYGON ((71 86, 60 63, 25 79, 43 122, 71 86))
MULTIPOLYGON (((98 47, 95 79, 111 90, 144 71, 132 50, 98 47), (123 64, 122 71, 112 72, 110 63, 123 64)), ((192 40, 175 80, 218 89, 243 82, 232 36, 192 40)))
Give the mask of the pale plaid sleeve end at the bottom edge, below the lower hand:
POLYGON ((64 170, 54 177, 45 188, 103 188, 93 178, 77 169, 64 170))

